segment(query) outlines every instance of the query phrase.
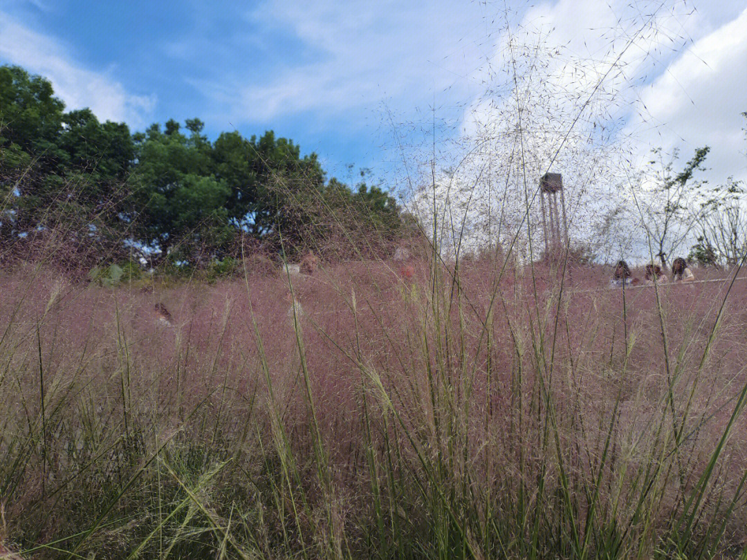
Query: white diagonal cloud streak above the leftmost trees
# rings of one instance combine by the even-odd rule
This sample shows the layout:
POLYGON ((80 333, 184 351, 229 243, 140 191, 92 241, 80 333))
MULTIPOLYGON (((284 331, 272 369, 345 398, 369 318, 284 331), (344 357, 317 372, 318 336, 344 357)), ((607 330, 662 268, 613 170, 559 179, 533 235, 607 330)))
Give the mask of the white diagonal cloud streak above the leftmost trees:
POLYGON ((0 60, 17 64, 52 82, 55 95, 69 109, 89 107, 99 119, 144 125, 155 107, 155 96, 128 93, 107 73, 93 72, 66 55, 69 48, 0 12, 0 60))

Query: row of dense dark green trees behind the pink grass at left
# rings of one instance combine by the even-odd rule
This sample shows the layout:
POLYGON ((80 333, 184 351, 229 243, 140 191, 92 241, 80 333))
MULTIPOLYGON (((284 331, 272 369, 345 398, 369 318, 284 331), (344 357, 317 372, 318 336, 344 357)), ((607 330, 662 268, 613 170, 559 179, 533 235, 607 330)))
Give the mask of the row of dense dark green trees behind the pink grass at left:
POLYGON ((0 66, 0 240, 55 229, 94 260, 141 247, 199 264, 241 236, 300 252, 335 224, 400 228, 394 199, 365 172, 351 190, 273 131, 210 140, 203 129, 170 119, 131 134, 89 109, 66 112, 45 78, 0 66))

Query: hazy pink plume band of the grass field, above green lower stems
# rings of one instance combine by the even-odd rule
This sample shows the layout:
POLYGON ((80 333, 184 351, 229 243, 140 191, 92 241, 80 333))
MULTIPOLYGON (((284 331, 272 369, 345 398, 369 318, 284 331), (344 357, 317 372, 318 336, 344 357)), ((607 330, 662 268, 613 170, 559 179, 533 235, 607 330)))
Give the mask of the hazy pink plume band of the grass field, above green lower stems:
MULTIPOLYGON (((495 293, 495 261, 462 264, 456 283, 447 270, 438 270, 435 283, 413 273, 412 290, 402 289, 394 270, 386 261, 359 261, 291 276, 292 285, 288 276, 258 273, 146 291, 135 284, 86 284, 43 269, 4 273, 3 348, 13 352, 3 350, 2 359, 17 373, 10 374, 12 390, 0 384, 6 434, 0 445, 9 445, 7 434, 28 432, 29 420, 40 414, 37 376, 23 373, 40 360, 46 410, 53 411, 47 420, 54 423, 46 474, 40 461, 28 462, 11 497, 14 525, 32 531, 23 512, 37 511, 42 497, 31 480, 45 476, 46 488, 65 476, 76 453, 90 445, 75 451, 75 442, 88 441, 90 426, 99 426, 97 441, 108 444, 134 441, 140 430, 147 441, 181 442, 171 444, 170 453, 187 444, 212 449, 217 457, 235 457, 255 477, 270 476, 264 462, 275 460, 270 455, 291 452, 297 462, 282 468, 297 470, 306 500, 327 507, 339 500, 347 523, 356 525, 371 514, 372 484, 388 488, 387 500, 402 500, 399 507, 415 519, 415 502, 397 492, 414 492, 413 481, 423 485, 436 473, 445 477, 439 484, 456 493, 468 480, 498 508, 536 491, 531 481, 544 469, 545 484, 567 484, 571 499, 580 500, 613 421, 611 458, 600 475, 607 489, 599 500, 607 508, 636 500, 635 485, 613 484, 616 469, 624 464, 644 472, 657 449, 651 430, 672 423, 653 288, 626 290, 623 314, 623 292, 607 289, 602 267, 568 267, 565 278, 562 268, 509 267, 495 293), (303 308, 297 323, 287 316, 291 289, 303 308), (173 327, 160 328, 158 317, 173 327), (557 444, 543 435, 548 423, 557 444), (323 468, 314 470, 321 458, 323 468), (375 482, 381 469, 388 482, 375 482)), ((707 468, 737 388, 746 382, 745 281, 734 285, 707 367, 698 370, 724 293, 718 282, 660 286, 680 411, 675 424, 686 422, 679 451, 686 455, 673 463, 666 487, 657 487, 665 517, 678 508, 678 492, 692 490, 707 468), (681 482, 677 466, 687 473, 681 482)), ((738 423, 719 462, 721 488, 736 491, 746 438, 738 423)), ((114 461, 106 457, 113 455, 99 461, 114 461)), ((466 494, 460 500, 460 507, 477 508, 466 494)), ((579 502, 579 514, 588 507, 579 502)), ((484 514, 476 510, 470 523, 484 514)), ((739 519, 745 514, 735 511, 739 519)), ((651 522, 663 527, 663 519, 651 522)))

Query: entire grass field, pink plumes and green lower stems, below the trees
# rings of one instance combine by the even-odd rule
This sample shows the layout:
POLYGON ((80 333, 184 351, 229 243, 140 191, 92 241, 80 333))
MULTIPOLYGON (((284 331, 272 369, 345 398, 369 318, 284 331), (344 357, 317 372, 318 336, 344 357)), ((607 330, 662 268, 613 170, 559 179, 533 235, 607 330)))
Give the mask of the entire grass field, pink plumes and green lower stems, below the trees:
POLYGON ((746 558, 747 281, 609 273, 371 261, 109 288, 19 265, 0 275, 0 543, 746 558))

